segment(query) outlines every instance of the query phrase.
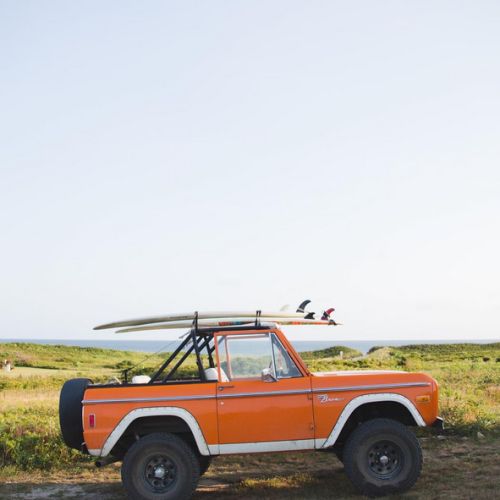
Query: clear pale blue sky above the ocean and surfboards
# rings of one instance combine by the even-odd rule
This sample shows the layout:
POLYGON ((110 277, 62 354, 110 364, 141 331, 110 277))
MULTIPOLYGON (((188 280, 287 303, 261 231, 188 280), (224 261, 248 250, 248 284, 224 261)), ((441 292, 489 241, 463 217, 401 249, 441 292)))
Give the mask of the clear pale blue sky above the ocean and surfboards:
POLYGON ((0 0, 0 336, 499 339, 499 160, 498 1, 0 0))

